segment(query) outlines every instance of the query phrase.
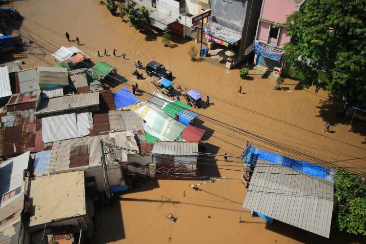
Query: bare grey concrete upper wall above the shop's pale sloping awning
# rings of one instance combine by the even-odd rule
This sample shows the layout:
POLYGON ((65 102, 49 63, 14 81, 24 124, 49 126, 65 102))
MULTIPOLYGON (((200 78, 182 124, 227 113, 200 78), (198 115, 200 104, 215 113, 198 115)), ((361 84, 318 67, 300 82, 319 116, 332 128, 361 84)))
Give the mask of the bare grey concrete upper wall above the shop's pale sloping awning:
POLYGON ((211 0, 210 20, 233 30, 242 31, 247 3, 247 0, 211 0))

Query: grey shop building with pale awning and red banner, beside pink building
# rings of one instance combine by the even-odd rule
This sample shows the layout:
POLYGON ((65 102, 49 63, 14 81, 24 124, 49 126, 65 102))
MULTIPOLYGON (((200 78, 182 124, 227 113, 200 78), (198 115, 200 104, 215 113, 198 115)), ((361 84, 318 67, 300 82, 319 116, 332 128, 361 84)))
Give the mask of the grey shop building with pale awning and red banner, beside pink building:
POLYGON ((224 45, 243 60, 244 49, 254 41, 261 6, 262 0, 211 0, 211 16, 203 26, 208 47, 224 45))

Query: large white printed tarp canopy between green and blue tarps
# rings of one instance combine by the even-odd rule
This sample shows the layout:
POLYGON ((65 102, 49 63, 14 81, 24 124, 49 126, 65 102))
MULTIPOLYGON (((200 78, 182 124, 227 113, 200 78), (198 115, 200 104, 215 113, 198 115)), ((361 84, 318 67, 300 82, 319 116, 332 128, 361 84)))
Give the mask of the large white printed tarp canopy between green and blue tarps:
POLYGON ((143 129, 162 141, 175 141, 186 127, 146 102, 137 102, 124 109, 131 109, 138 114, 144 120, 143 129))

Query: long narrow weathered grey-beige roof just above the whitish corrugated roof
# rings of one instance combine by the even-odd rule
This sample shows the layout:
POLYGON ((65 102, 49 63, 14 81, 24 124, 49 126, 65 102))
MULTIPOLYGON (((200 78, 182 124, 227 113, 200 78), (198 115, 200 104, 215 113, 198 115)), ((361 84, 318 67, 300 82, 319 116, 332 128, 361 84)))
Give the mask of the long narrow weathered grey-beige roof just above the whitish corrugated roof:
POLYGON ((73 111, 79 108, 88 108, 97 105, 99 105, 99 94, 96 92, 51 98, 41 101, 36 116, 53 112, 73 111))

